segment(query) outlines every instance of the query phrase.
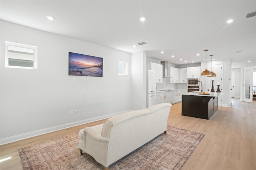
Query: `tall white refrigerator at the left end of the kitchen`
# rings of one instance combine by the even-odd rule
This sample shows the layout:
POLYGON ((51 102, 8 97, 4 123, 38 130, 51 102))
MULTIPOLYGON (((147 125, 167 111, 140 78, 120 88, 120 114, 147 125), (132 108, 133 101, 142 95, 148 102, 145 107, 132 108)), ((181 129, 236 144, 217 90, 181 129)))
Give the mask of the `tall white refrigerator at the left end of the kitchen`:
POLYGON ((147 70, 147 107, 156 105, 156 71, 147 70))

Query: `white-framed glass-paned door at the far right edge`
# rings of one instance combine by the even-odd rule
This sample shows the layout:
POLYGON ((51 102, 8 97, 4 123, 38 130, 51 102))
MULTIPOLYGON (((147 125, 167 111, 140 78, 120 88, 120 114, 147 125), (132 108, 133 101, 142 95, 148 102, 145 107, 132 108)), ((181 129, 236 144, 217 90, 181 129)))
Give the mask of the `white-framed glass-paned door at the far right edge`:
POLYGON ((244 68, 243 100, 252 103, 252 67, 244 68))

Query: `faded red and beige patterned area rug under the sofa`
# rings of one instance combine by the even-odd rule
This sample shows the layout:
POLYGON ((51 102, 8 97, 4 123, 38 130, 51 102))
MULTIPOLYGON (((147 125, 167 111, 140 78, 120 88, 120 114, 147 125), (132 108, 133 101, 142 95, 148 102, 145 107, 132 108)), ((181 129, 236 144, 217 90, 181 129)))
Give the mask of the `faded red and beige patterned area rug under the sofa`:
MULTIPOLYGON (((160 134, 109 166, 110 170, 180 170, 204 134, 167 127, 160 134)), ((78 150, 78 132, 18 149, 24 170, 102 170, 104 167, 78 150)))

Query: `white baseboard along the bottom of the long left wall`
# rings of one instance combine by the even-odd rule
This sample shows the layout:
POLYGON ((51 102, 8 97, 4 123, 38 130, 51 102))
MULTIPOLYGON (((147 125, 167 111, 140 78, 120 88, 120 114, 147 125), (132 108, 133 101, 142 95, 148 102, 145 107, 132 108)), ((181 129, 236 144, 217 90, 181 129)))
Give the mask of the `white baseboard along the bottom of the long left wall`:
POLYGON ((44 129, 40 129, 40 130, 35 130, 35 131, 32 131, 32 132, 26 132, 26 133, 22 133, 22 134, 17 134, 17 135, 14 135, 14 136, 10 136, 10 137, 6 137, 6 138, 0 139, 0 145, 8 144, 8 143, 11 143, 11 142, 16 142, 18 140, 22 140, 22 139, 26 139, 26 138, 31 138, 31 137, 38 136, 38 135, 41 135, 41 134, 46 134, 46 133, 54 132, 54 131, 57 131, 57 130, 62 130, 64 128, 70 128, 70 127, 75 127, 75 126, 78 126, 78 125, 83 125, 85 123, 99 121, 99 120, 102 120, 102 119, 113 117, 115 115, 120 115, 121 113, 129 112, 129 111, 131 111, 131 110, 122 111, 122 112, 118 112, 118 113, 112 113, 112 114, 109 114, 109 115, 94 117, 94 118, 90 118, 90 119, 84 119, 82 121, 66 123, 66 124, 63 124, 63 125, 58 125, 58 126, 55 126, 55 127, 44 128, 44 129))

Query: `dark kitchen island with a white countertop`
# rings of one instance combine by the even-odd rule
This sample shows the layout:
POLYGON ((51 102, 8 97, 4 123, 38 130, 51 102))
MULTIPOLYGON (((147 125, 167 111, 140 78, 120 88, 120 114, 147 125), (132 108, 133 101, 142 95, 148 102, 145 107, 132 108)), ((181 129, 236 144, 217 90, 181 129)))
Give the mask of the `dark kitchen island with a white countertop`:
POLYGON ((218 109, 218 97, 224 93, 211 92, 209 95, 198 94, 200 91, 193 91, 182 94, 181 115, 210 119, 218 109))

